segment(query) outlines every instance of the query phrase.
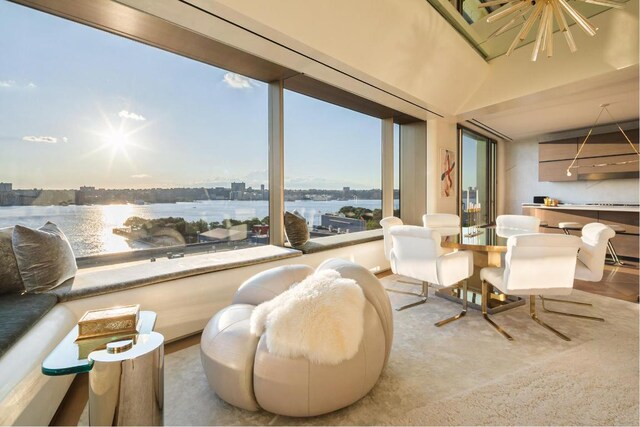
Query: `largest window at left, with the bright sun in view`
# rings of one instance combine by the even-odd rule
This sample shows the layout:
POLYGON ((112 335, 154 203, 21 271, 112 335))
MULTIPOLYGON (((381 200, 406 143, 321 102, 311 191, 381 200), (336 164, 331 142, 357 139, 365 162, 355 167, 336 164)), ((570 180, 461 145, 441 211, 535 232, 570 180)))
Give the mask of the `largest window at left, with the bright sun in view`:
POLYGON ((0 227, 79 257, 268 243, 264 83, 6 1, 0 51, 0 227))

